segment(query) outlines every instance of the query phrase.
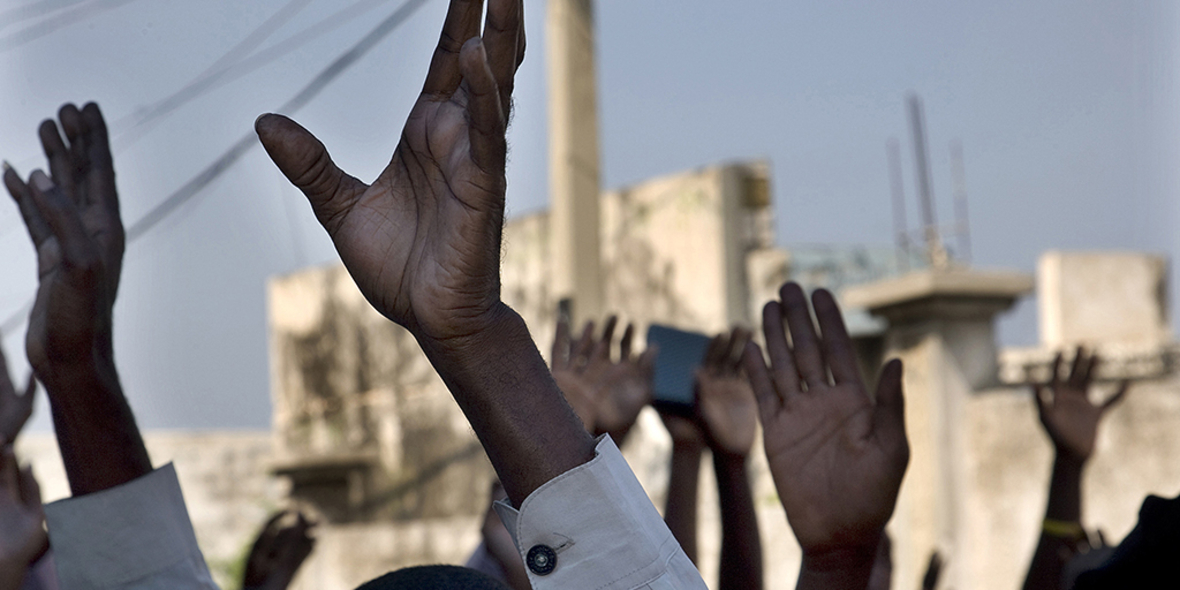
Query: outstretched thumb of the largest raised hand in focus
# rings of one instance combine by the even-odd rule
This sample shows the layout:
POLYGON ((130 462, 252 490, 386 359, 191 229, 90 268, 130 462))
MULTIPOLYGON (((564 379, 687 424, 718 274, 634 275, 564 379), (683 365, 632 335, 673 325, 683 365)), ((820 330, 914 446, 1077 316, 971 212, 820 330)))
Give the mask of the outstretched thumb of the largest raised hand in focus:
POLYGON ((347 212, 368 186, 340 170, 310 131, 282 114, 258 117, 254 131, 270 159, 303 191, 320 223, 332 232, 333 219, 347 212))

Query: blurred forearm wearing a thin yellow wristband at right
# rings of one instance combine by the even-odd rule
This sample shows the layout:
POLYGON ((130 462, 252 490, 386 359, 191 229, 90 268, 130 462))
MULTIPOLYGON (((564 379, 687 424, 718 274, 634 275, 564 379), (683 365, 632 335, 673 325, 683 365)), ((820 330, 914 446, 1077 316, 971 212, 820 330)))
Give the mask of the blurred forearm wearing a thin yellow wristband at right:
MULTIPOLYGON (((1044 522, 1081 525, 1082 514, 1082 470, 1083 461, 1063 457, 1060 453, 1053 464, 1053 477, 1049 480, 1049 502, 1044 511, 1044 522)), ((1076 552, 1077 538, 1062 536, 1058 531, 1049 531, 1042 523, 1041 539, 1037 542, 1032 563, 1029 564, 1024 589, 1057 588, 1061 573, 1068 560, 1064 556, 1076 552)))

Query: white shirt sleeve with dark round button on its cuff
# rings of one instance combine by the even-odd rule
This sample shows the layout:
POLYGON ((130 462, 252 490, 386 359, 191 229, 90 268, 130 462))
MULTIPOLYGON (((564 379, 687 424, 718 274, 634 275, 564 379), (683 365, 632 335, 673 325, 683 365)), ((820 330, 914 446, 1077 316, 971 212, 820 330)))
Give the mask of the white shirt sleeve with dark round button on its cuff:
POLYGON ((520 510, 496 512, 512 533, 535 590, 706 590, 618 447, 535 490, 520 510))

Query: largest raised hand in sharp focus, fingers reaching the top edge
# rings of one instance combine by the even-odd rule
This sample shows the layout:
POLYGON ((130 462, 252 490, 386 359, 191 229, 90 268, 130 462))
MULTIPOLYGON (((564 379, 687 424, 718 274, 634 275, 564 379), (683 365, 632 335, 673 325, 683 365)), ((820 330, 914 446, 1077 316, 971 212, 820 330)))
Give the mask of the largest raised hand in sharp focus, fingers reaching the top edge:
POLYGON ((520 0, 490 0, 480 35, 481 14, 481 1, 451 1, 422 92, 373 184, 336 168, 295 122, 255 123, 369 303, 452 352, 504 313, 504 133, 525 40, 520 0))

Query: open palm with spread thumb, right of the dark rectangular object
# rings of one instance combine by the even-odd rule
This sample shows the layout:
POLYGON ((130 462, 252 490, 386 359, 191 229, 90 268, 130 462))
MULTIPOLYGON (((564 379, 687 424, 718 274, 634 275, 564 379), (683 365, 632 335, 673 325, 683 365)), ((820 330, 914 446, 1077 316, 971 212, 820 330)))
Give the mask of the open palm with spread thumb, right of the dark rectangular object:
POLYGON ((802 548, 796 588, 863 589, 910 460, 902 363, 885 365, 870 396, 832 294, 812 299, 817 333, 802 289, 787 283, 779 293, 762 310, 771 365, 753 342, 745 365, 771 474, 802 548))

